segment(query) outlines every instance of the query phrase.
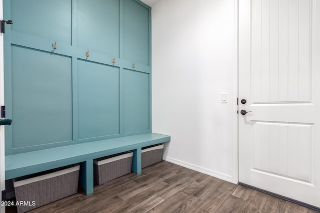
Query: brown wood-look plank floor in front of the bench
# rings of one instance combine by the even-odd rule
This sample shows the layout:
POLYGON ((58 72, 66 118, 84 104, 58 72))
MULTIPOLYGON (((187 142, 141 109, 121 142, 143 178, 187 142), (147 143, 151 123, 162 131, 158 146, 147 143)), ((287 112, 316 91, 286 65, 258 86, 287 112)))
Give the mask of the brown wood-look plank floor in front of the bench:
MULTIPOLYGON (((16 212, 7 208, 6 213, 16 212)), ((166 161, 30 213, 316 213, 166 161)))

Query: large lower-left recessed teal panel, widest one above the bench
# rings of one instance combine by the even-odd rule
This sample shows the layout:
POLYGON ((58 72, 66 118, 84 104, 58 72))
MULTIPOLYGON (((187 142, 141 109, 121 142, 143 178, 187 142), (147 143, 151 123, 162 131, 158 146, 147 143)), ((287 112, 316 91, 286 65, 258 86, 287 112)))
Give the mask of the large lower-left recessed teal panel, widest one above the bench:
POLYGON ((12 148, 72 140, 71 58, 12 46, 12 148))

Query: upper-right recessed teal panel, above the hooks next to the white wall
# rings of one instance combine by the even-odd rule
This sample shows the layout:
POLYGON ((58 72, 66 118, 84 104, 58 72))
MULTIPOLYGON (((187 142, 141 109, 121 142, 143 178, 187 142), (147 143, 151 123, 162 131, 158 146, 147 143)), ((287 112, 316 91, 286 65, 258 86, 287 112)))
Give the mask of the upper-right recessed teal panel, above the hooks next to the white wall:
POLYGON ((134 0, 123 1, 123 58, 149 65, 149 10, 134 0))

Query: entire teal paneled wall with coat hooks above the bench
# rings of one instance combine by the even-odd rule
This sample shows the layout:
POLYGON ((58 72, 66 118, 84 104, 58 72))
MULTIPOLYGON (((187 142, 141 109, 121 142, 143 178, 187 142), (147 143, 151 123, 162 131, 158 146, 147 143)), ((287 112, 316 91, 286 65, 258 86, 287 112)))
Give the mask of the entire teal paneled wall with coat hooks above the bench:
POLYGON ((7 0, 3 13, 6 155, 151 132, 150 7, 7 0))

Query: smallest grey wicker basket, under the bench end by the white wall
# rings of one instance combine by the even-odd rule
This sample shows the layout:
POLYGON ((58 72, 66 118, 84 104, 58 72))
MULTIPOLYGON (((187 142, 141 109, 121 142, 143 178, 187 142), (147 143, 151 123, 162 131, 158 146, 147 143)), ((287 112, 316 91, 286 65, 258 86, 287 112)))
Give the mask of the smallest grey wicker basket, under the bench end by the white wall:
POLYGON ((142 148, 141 167, 147 167, 162 161, 163 144, 142 148))

